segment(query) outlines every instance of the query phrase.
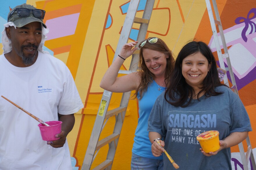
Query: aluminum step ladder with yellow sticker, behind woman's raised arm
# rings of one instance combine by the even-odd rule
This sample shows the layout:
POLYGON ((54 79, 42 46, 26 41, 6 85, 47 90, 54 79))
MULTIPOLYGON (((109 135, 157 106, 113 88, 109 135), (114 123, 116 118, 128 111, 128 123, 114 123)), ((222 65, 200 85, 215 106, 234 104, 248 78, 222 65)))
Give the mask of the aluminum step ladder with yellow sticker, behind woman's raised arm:
MULTIPOLYGON (((136 17, 138 5, 139 5, 139 0, 130 1, 113 61, 116 59, 116 57, 120 53, 122 46, 128 42, 133 23, 140 24, 137 41, 141 42, 142 40, 145 39, 148 24, 149 24, 153 6, 154 6, 154 0, 146 1, 142 18, 136 17)), ((138 61, 139 61, 138 51, 139 50, 136 50, 132 55, 129 70, 120 70, 118 72, 119 74, 129 74, 132 71, 137 71, 138 61)), ((122 99, 120 102, 120 107, 107 111, 109 107, 109 102, 112 96, 112 92, 104 90, 81 170, 89 170, 91 168, 93 160, 95 159, 99 149, 105 146, 106 144, 109 144, 107 158, 101 164, 95 167, 93 170, 100 170, 100 169, 110 170, 112 168, 112 163, 115 157, 115 151, 117 148, 118 139, 122 129, 122 124, 125 118, 127 105, 130 99, 130 94, 131 92, 123 93, 122 99), (102 129, 106 125, 107 120, 112 116, 115 116, 115 126, 113 130, 113 134, 99 141, 99 137, 102 132, 102 129)))

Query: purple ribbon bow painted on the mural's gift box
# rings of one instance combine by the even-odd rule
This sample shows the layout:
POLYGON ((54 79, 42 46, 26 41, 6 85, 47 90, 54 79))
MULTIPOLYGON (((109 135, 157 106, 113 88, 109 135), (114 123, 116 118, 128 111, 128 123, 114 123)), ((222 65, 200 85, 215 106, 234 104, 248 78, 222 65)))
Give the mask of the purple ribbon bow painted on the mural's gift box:
POLYGON ((243 23, 243 22, 244 22, 244 24, 245 24, 245 27, 243 28, 243 31, 242 31, 242 33, 241 33, 241 36, 242 36, 242 38, 243 38, 243 40, 244 40, 245 42, 247 42, 246 31, 247 31, 248 28, 249 28, 249 24, 250 24, 250 26, 251 26, 251 31, 250 31, 249 34, 252 34, 252 33, 253 33, 253 25, 254 25, 254 28, 255 28, 255 29, 254 29, 254 32, 256 32, 256 24, 251 21, 251 19, 254 19, 254 18, 256 18, 256 8, 253 8, 253 9, 251 9, 251 10, 248 12, 247 18, 244 18, 244 17, 237 17, 237 19, 235 19, 235 23, 236 23, 236 24, 241 24, 241 23, 243 23), (250 14, 253 14, 253 16, 252 16, 251 18, 249 18, 249 17, 250 17, 250 14))

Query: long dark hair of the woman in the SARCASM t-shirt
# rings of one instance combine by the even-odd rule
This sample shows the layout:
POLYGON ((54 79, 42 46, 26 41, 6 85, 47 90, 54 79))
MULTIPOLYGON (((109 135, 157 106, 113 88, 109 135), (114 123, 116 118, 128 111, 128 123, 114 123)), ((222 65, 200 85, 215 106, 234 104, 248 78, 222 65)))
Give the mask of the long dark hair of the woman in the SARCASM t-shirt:
POLYGON ((186 107, 188 106, 193 96, 195 96, 194 89, 188 85, 185 81, 184 76, 182 75, 182 61, 187 56, 190 56, 195 53, 202 53, 205 58, 207 58, 209 64, 211 63, 211 67, 207 76, 203 80, 202 87, 200 87, 200 92, 197 94, 197 99, 199 100, 199 96, 201 93, 205 93, 206 97, 217 96, 222 94, 223 92, 216 92, 214 90, 215 87, 221 86, 219 78, 218 78, 218 70, 216 65, 216 60, 211 52, 211 49, 207 44, 201 41, 191 41, 182 47, 180 50, 177 59, 174 65, 174 71, 170 78, 170 83, 165 92, 165 100, 174 106, 186 107), (178 94, 179 98, 175 94, 178 94), (169 96, 171 101, 168 101, 166 96, 169 96), (187 99, 189 101, 187 102, 187 99))

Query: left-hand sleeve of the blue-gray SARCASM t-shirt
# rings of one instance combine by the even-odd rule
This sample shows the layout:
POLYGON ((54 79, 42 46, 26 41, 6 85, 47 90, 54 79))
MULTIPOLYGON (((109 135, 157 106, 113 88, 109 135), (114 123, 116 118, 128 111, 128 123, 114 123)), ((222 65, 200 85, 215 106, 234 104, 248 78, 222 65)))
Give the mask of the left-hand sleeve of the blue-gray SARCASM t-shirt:
MULTIPOLYGON (((163 120, 162 120, 162 115, 163 115, 163 109, 161 105, 163 104, 161 101, 161 96, 160 95, 157 100, 155 101, 153 108, 150 112, 149 119, 148 119, 148 128, 147 131, 149 132, 157 132, 159 133, 162 137, 165 137, 165 128, 163 126, 163 120)), ((164 100, 164 99, 163 99, 164 100)))

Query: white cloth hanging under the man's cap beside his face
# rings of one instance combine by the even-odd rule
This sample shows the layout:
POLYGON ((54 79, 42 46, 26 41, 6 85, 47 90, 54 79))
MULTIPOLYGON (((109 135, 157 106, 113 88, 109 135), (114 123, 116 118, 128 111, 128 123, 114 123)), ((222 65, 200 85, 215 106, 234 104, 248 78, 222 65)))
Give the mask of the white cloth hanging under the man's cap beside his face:
MULTIPOLYGON (((17 26, 13 22, 8 22, 3 25, 4 25, 4 28, 2 31, 2 44, 3 44, 3 53, 5 54, 5 53, 9 53, 10 51, 12 51, 12 42, 7 37, 5 28, 7 28, 9 26, 14 26, 16 29, 17 26)), ((43 53, 49 54, 48 51, 43 51, 43 49, 42 49, 42 47, 45 44, 45 41, 47 39, 47 36, 46 36, 47 33, 49 33, 49 29, 42 26, 42 40, 41 40, 41 43, 39 44, 38 50, 42 51, 43 53)))

